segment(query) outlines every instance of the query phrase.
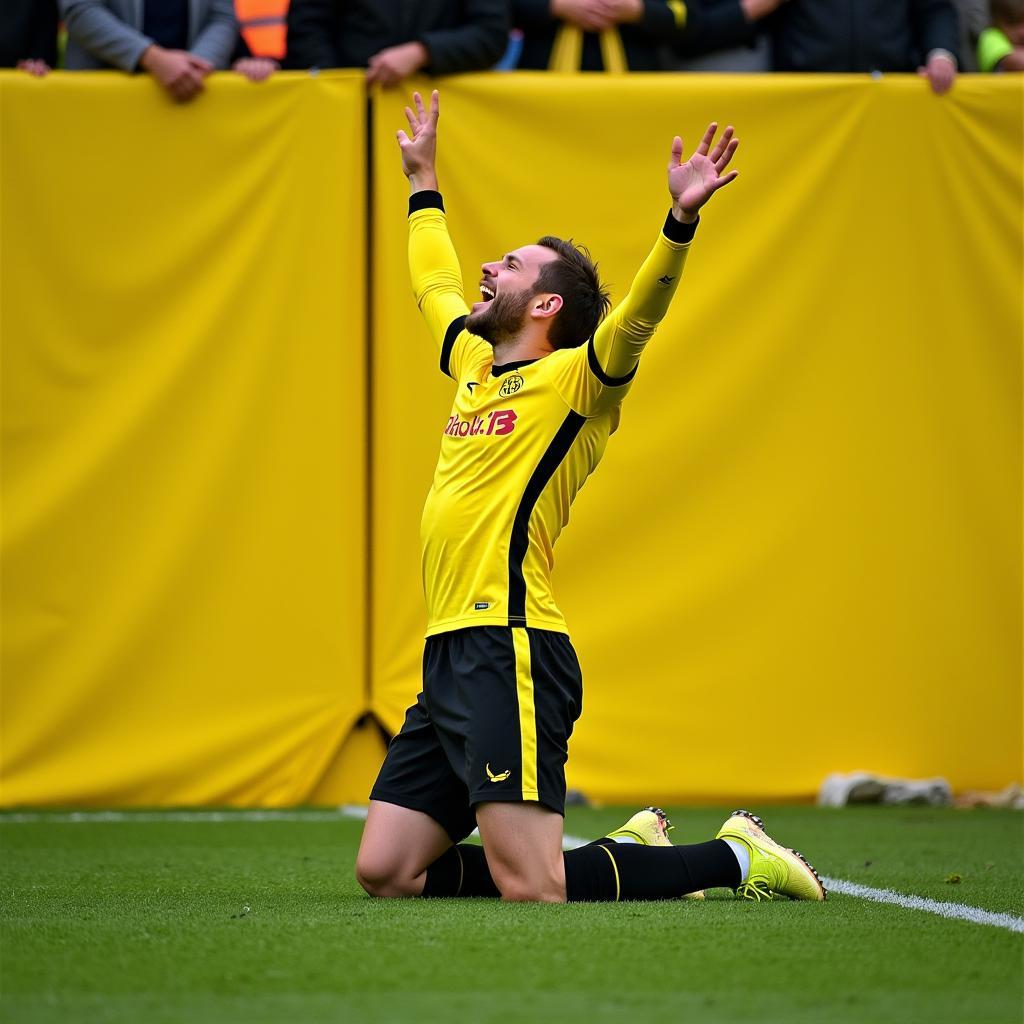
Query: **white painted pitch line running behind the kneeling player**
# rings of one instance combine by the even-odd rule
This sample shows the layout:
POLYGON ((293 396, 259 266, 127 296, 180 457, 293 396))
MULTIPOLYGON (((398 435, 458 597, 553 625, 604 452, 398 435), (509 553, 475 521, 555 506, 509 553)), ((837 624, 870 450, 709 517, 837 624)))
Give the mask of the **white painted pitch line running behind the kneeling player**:
MULTIPOLYGON (((32 824, 47 822, 54 824, 81 824, 83 822, 118 822, 118 821, 180 821, 180 822, 228 822, 228 821, 338 821, 342 818, 364 819, 367 808, 358 804, 346 804, 337 810, 242 810, 242 811, 14 811, 10 814, 0 813, 2 824, 32 824)), ((476 833, 473 834, 477 835, 476 833)), ((590 842, 579 836, 564 836, 562 846, 566 850, 574 850, 590 842)), ((904 896, 889 889, 872 889, 856 882, 844 879, 821 880, 829 892, 843 896, 856 896, 860 899, 872 900, 876 903, 890 903, 903 907, 905 910, 923 910, 926 913, 938 914, 950 921, 967 921, 974 925, 988 925, 1010 932, 1024 932, 1024 918, 1012 913, 995 913, 991 910, 980 910, 966 903, 947 903, 943 900, 926 899, 924 896, 904 896)))

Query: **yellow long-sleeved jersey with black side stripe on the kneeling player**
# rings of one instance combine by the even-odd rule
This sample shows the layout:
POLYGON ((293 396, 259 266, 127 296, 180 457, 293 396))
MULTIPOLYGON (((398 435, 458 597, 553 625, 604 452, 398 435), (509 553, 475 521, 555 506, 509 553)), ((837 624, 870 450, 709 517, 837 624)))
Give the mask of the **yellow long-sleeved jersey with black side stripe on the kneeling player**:
POLYGON ((551 589, 555 542, 618 424, 694 227, 669 215, 629 294, 584 344, 496 366, 492 346, 465 330, 441 198, 412 197, 413 289, 456 382, 420 530, 427 636, 468 626, 568 632, 551 589))

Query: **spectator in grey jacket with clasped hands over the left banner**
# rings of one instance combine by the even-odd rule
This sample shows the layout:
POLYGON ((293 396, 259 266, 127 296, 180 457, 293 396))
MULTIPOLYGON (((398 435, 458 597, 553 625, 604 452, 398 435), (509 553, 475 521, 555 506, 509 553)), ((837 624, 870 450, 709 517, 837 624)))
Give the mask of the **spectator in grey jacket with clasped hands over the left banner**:
POLYGON ((224 69, 238 25, 231 0, 59 0, 70 71, 148 72, 176 100, 224 69))

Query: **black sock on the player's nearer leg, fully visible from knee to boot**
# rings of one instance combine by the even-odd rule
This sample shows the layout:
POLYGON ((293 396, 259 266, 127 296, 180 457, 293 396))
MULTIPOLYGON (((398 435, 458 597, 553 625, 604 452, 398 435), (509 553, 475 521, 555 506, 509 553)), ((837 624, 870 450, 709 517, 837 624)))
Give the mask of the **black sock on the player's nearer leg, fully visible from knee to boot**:
POLYGON ((735 889, 739 864, 727 843, 693 846, 591 843, 565 858, 565 897, 570 903, 676 899, 698 889, 735 889))

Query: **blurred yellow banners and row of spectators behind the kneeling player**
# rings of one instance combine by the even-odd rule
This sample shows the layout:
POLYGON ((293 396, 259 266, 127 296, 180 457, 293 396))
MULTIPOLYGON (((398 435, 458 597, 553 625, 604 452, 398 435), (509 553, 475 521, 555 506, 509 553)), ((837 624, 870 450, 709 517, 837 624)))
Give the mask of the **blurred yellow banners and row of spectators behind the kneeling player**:
POLYGON ((622 298, 673 135, 741 139, 556 551, 570 787, 1021 780, 1024 6, 2 22, 0 804, 366 801, 420 687, 452 401, 394 143, 435 86, 467 293, 553 233, 622 298))

